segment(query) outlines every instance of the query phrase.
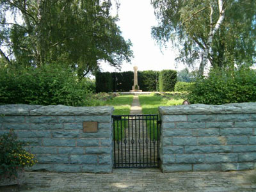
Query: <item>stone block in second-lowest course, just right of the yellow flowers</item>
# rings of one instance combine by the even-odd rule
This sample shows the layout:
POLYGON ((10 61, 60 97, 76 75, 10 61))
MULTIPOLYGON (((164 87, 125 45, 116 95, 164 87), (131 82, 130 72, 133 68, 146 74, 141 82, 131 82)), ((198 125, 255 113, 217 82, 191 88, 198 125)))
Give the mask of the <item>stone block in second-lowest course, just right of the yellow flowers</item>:
POLYGON ((36 155, 38 163, 69 163, 68 155, 36 155))

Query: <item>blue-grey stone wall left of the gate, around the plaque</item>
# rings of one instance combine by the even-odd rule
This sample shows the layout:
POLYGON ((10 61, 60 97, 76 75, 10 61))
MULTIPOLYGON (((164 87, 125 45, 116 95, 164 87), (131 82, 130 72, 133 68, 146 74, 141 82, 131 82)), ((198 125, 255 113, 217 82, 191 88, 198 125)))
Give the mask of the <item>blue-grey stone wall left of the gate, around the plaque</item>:
POLYGON ((38 164, 29 170, 111 173, 112 107, 0 106, 0 134, 14 129, 38 164), (83 132, 83 122, 98 132, 83 132))

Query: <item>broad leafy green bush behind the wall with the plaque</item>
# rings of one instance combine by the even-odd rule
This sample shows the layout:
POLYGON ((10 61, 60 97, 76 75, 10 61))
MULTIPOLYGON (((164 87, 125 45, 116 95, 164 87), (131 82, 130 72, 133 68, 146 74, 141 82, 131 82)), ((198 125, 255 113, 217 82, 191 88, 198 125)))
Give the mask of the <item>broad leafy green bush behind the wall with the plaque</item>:
POLYGON ((0 104, 86 106, 90 103, 86 79, 59 65, 0 69, 0 104))

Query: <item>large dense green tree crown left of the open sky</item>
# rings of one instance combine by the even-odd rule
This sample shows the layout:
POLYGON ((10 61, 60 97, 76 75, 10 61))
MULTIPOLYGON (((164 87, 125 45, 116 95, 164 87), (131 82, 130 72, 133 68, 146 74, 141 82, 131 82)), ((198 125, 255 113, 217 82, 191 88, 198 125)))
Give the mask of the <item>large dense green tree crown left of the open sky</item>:
POLYGON ((120 67, 132 57, 110 0, 1 0, 0 9, 0 53, 9 65, 62 63, 83 77, 99 61, 120 67), (10 13, 22 21, 10 21, 10 13))

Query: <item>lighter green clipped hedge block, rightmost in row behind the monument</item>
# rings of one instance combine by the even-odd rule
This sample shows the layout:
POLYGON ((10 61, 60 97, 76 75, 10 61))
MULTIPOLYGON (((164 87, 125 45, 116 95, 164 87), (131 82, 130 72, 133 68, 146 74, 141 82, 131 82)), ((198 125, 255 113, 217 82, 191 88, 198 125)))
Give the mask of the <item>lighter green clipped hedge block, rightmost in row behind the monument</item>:
POLYGON ((177 71, 162 70, 159 72, 159 90, 160 92, 173 92, 177 81, 177 71))

